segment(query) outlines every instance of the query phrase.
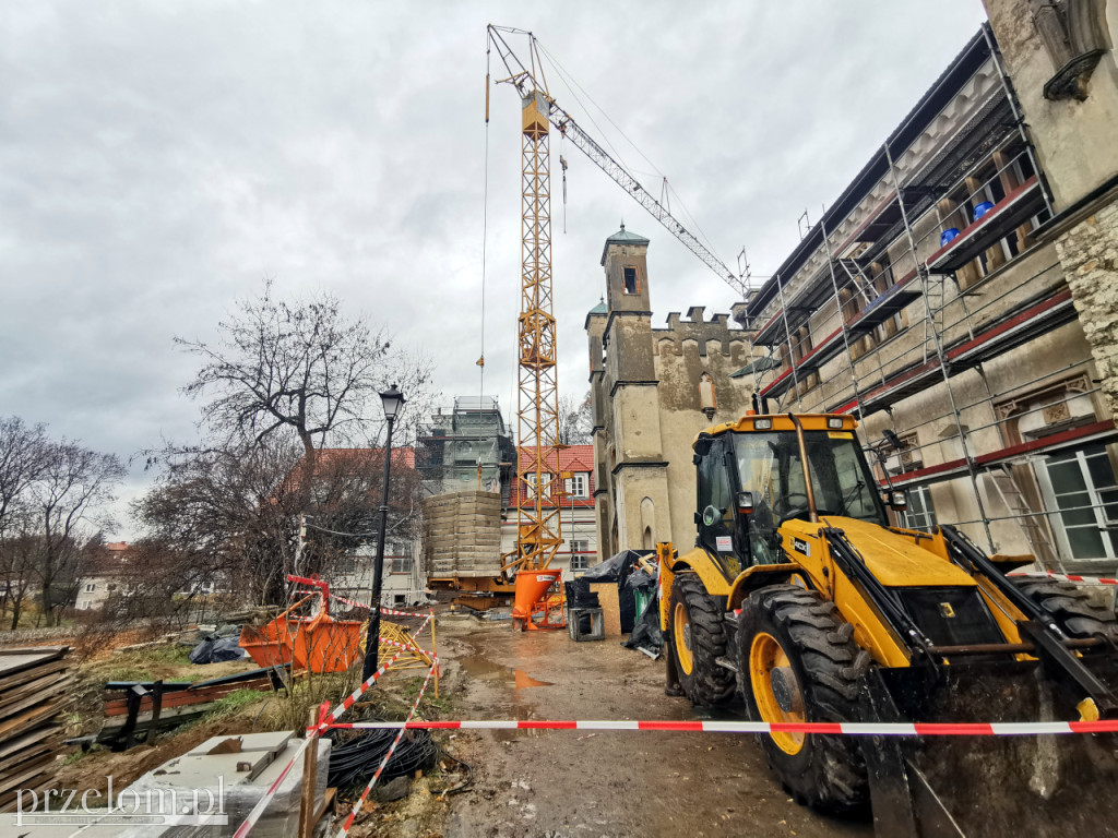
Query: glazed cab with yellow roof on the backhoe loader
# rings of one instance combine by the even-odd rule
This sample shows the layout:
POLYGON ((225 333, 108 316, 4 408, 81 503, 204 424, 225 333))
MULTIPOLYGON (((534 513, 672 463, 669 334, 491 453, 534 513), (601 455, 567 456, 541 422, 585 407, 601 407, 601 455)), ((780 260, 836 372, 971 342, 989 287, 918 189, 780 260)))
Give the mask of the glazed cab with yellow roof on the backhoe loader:
POLYGON ((806 474, 799 437, 787 416, 746 417, 695 440, 698 543, 718 558, 728 575, 748 565, 785 561, 780 525, 811 520, 809 495, 819 517, 889 525, 853 419, 806 415, 798 420, 806 474))

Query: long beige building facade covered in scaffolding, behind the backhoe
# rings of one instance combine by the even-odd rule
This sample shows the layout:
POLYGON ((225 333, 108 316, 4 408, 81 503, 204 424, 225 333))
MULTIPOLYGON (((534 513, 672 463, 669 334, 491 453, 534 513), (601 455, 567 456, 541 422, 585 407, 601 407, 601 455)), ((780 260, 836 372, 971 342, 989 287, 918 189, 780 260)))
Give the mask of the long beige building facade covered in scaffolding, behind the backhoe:
POLYGON ((856 415, 912 528, 948 508, 991 552, 1118 568, 1118 432, 1086 344, 1036 355, 1077 315, 1036 241, 1051 199, 987 28, 860 179, 748 303, 771 360, 758 396, 856 415))

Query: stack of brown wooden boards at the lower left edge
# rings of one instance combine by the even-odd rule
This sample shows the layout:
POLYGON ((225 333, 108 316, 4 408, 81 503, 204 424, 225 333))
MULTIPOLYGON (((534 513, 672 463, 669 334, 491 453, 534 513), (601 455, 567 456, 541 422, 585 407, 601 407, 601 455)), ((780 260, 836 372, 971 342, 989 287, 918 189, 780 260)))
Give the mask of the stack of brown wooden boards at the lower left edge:
POLYGON ((74 678, 68 646, 0 649, 0 812, 19 789, 51 787, 74 678))

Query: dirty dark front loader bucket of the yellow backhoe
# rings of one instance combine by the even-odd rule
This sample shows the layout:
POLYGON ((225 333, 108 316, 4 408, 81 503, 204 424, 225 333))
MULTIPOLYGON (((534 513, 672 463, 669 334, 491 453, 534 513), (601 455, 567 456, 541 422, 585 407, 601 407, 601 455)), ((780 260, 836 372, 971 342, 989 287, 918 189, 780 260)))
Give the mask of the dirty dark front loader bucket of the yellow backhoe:
MULTIPOLYGON (((1115 656, 1092 670, 1118 684, 1115 656)), ((877 722, 1053 722, 1080 717, 1039 661, 875 669, 861 706, 877 722)), ((862 740, 878 836, 1036 838, 1115 829, 1118 734, 874 736, 862 740)))

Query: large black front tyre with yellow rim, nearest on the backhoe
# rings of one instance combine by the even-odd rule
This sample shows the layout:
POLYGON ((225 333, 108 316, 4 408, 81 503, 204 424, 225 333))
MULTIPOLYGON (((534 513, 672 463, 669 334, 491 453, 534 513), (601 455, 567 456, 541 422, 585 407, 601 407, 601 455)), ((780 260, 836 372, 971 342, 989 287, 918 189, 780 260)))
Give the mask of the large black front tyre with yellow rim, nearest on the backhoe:
MULTIPOLYGON (((738 617, 738 682, 755 722, 852 722, 869 653, 833 602, 774 584, 754 591, 738 617)), ((850 736, 760 734, 769 766, 802 806, 821 812, 865 810, 865 763, 850 736)))

